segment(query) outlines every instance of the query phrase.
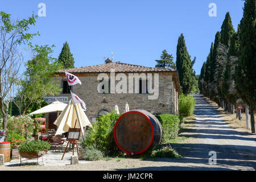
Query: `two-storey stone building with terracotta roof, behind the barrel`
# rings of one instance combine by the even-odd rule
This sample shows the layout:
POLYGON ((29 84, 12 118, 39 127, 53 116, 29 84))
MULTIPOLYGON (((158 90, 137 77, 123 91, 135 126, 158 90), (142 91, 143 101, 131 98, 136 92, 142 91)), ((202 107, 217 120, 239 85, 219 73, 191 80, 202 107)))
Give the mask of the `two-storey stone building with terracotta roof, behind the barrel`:
MULTIPOLYGON (((51 100, 70 100, 71 89, 85 102, 85 113, 90 122, 95 122, 98 115, 113 111, 115 104, 120 114, 124 113, 126 102, 130 110, 179 114, 179 76, 177 71, 170 68, 150 68, 107 59, 105 64, 61 69, 57 75, 62 91, 51 100), (79 77, 82 85, 68 86, 65 71, 79 77)), ((49 120, 54 122, 55 118, 49 120)))

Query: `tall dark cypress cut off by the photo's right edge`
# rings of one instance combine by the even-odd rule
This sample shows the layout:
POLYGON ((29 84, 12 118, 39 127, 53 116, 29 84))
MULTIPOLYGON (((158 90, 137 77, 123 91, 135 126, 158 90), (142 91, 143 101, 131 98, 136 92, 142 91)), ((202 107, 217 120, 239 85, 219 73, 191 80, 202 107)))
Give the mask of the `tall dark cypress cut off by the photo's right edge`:
POLYGON ((239 96, 250 107, 251 132, 255 133, 256 109, 256 9, 255 0, 246 0, 240 22, 239 42, 241 55, 235 70, 235 83, 239 96))

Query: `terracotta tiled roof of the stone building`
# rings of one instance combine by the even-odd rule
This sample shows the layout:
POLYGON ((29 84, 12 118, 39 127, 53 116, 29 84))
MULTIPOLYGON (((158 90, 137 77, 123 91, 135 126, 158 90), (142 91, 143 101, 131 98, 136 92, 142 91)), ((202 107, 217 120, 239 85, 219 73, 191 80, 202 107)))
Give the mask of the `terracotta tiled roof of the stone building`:
MULTIPOLYGON (((88 67, 66 69, 69 73, 103 73, 110 72, 110 69, 115 69, 115 72, 174 72, 171 68, 152 68, 143 67, 140 65, 126 64, 113 62, 108 64, 99 64, 88 67)), ((64 73, 64 69, 60 69, 57 73, 64 73)))

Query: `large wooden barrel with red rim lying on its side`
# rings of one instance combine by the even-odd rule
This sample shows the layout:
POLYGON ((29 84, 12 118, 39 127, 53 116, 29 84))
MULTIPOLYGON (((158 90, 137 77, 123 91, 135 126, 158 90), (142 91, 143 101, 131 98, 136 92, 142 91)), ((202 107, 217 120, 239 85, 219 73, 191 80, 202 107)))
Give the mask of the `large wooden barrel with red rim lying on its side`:
POLYGON ((162 125, 146 110, 131 110, 121 115, 114 126, 117 146, 133 156, 152 150, 162 138, 162 125))

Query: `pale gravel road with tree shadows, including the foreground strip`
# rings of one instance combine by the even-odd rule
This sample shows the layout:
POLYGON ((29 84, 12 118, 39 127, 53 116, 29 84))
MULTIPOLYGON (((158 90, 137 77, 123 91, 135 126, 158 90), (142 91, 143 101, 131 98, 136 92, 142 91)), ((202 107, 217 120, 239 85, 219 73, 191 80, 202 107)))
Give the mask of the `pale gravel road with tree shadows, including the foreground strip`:
POLYGON ((180 143, 171 144, 181 159, 129 159, 114 158, 86 164, 67 166, 0 167, 1 170, 255 170, 256 135, 231 129, 220 115, 203 100, 196 98, 196 125, 181 136, 189 137, 180 143), (209 152, 216 152, 216 164, 209 164, 209 152))

